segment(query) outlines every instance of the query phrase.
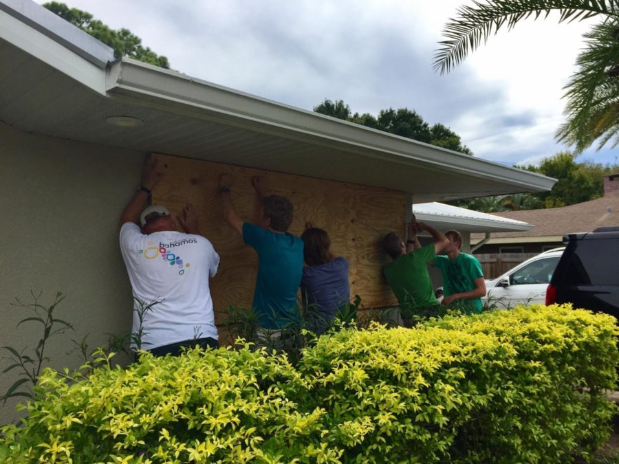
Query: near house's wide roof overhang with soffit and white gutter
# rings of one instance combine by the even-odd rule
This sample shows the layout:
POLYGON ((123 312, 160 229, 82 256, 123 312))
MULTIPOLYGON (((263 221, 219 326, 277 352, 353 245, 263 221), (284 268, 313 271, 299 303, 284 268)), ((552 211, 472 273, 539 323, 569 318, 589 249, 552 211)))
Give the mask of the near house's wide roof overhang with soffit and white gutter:
POLYGON ((22 131, 401 190, 413 201, 550 190, 555 179, 129 58, 30 0, 0 0, 0 121, 22 131), (106 123, 132 116, 140 126, 106 123))

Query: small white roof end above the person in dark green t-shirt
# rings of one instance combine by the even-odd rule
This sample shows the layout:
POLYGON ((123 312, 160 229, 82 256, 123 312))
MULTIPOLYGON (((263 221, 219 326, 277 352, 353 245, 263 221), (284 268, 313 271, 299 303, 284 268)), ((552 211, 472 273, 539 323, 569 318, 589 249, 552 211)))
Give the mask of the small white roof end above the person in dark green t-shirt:
POLYGON ((526 231, 533 228, 532 225, 523 221, 436 202, 414 204, 413 214, 417 221, 428 223, 443 232, 448 229, 456 229, 459 232, 496 232, 501 230, 526 231))

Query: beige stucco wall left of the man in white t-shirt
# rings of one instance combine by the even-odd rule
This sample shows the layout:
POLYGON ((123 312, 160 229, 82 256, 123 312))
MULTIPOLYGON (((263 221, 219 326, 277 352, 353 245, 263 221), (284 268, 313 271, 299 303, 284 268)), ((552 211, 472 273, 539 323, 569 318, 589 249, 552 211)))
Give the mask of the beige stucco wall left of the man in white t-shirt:
MULTIPOLYGON (((66 353, 71 339, 89 333, 91 346, 100 346, 106 333, 131 331, 118 219, 139 186, 143 159, 143 153, 30 135, 0 123, 0 346, 31 352, 36 346, 34 323, 15 328, 30 314, 11 305, 16 297, 32 302, 31 290, 43 292, 44 303, 57 291, 66 295, 56 316, 75 331, 50 342, 47 354, 57 368, 79 366, 78 354, 66 353)), ((0 359, 0 372, 6 366, 0 359)), ((0 375, 1 393, 14 381, 11 374, 0 375)), ((0 403, 0 423, 17 417, 15 403, 0 403)))

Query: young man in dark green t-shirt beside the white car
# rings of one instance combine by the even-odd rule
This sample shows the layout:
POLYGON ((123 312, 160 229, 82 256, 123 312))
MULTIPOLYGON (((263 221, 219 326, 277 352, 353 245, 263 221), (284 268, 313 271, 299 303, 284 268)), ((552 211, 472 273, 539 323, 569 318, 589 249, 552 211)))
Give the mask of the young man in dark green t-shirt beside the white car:
POLYGON ((475 256, 462 253, 462 235, 448 230, 447 256, 436 256, 433 266, 443 274, 444 298, 442 305, 457 308, 463 313, 480 313, 481 297, 486 295, 486 280, 481 264, 475 256))

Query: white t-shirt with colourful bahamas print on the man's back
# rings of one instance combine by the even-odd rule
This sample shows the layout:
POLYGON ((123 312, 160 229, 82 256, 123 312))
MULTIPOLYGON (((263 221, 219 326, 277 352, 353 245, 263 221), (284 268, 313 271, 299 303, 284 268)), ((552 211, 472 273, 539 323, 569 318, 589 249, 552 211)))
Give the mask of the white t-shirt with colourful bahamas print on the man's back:
POLYGON ((136 298, 146 305, 158 302, 143 315, 142 349, 197 338, 217 340, 208 278, 217 273, 219 255, 210 241, 172 231, 144 235, 137 224, 124 223, 120 251, 133 287, 134 335, 140 330, 136 298))

